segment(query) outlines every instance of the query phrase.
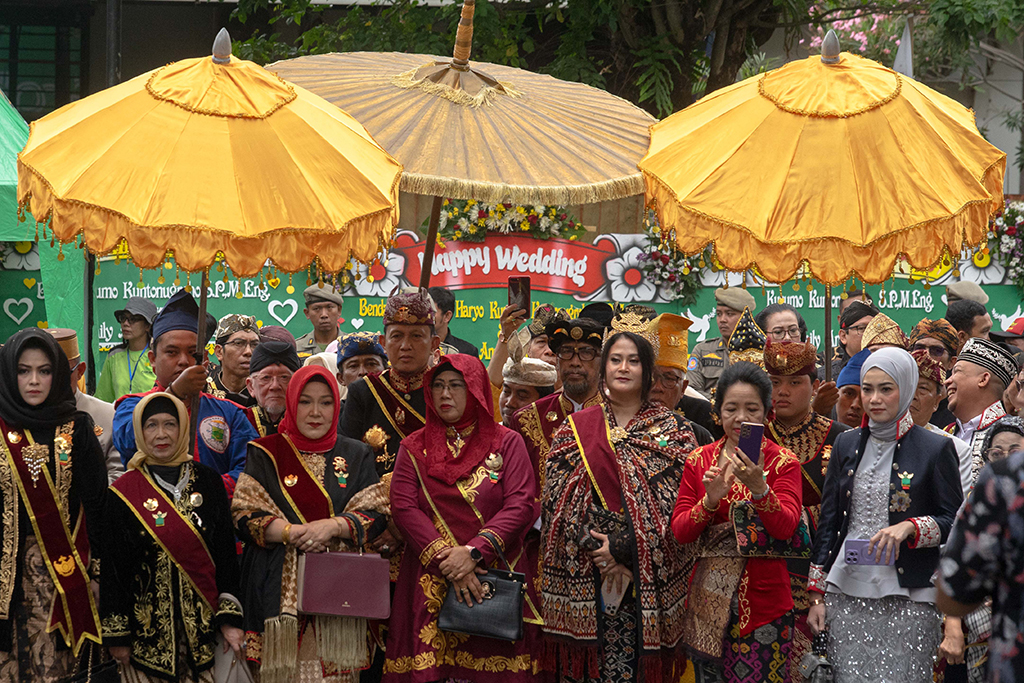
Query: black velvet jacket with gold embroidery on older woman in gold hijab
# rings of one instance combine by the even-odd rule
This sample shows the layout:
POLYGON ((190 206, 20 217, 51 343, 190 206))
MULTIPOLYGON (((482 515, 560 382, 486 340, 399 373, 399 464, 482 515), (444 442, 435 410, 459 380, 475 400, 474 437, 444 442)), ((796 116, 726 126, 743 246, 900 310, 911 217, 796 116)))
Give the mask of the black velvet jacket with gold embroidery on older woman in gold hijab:
POLYGON ((109 538, 99 584, 103 645, 130 646, 135 667, 168 681, 182 680, 188 673, 179 666, 182 641, 191 677, 198 679, 199 672, 213 667, 221 625, 242 628, 237 598, 241 572, 224 484, 201 463, 190 468, 175 508, 190 520, 216 567, 215 612, 175 559, 175 548, 165 549, 143 526, 141 515, 160 514, 157 505, 154 511, 147 505, 138 510, 111 493, 104 513, 109 538))

